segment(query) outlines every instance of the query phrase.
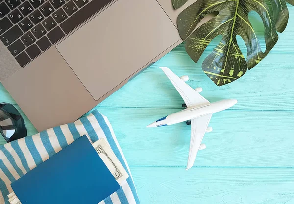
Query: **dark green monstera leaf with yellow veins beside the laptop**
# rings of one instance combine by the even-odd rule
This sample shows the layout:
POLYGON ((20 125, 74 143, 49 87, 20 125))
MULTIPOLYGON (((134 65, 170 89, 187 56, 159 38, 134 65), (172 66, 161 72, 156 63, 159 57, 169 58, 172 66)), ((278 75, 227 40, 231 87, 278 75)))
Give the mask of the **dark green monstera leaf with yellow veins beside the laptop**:
MULTIPOLYGON (((175 9, 189 0, 172 0, 175 9)), ((294 0, 287 0, 294 5, 294 0)), ((233 82, 257 65, 270 52, 288 23, 285 0, 197 0, 182 11, 177 19, 179 34, 185 40, 189 56, 197 62, 207 45, 216 36, 221 42, 206 57, 202 69, 218 86, 233 82), (261 50, 257 34, 248 19, 256 11, 263 20, 266 50, 261 50), (200 21, 210 13, 218 13, 197 29, 200 21), (247 47, 247 59, 242 54, 236 36, 247 47)))

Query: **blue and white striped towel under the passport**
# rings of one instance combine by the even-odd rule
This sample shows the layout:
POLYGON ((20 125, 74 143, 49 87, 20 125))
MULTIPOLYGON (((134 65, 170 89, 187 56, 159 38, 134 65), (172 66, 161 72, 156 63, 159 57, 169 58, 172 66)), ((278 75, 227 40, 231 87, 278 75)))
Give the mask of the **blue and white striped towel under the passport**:
MULTIPOLYGON (((129 174, 122 187, 99 204, 140 204, 137 191, 123 151, 108 119, 93 111, 74 123, 51 128, 0 146, 0 204, 9 204, 10 183, 49 159, 80 136, 87 135, 92 142, 99 138, 108 141, 117 158, 129 174)), ((86 195, 85 195, 86 196, 86 195)))

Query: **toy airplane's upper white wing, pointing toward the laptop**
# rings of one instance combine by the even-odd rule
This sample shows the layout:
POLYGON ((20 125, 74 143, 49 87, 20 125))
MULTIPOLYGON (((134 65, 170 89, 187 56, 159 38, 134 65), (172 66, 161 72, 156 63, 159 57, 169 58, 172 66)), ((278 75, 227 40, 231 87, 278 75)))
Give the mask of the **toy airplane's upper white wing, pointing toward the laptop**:
POLYGON ((181 80, 177 75, 175 75, 169 68, 160 67, 167 77, 172 82, 175 89, 182 96, 187 107, 196 106, 196 105, 208 105, 210 102, 201 96, 197 91, 192 89, 188 84, 181 80))

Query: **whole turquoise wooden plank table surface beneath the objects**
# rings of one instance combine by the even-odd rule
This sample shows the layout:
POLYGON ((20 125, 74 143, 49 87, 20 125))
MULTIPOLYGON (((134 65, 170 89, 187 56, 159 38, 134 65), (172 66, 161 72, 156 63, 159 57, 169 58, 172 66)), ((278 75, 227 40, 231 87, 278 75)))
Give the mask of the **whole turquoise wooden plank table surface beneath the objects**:
MULTIPOLYGON (((294 7, 289 9, 289 25, 270 54, 232 84, 217 87, 201 70, 216 41, 197 64, 179 45, 96 107, 113 125, 142 204, 294 204, 294 7), (160 66, 189 75, 187 83, 202 87, 211 102, 238 99, 213 115, 214 131, 203 139, 207 148, 189 171, 189 126, 145 128, 182 109, 160 66)), ((1 85, 0 102, 17 106, 1 85)), ((29 134, 36 133, 25 119, 29 134)))

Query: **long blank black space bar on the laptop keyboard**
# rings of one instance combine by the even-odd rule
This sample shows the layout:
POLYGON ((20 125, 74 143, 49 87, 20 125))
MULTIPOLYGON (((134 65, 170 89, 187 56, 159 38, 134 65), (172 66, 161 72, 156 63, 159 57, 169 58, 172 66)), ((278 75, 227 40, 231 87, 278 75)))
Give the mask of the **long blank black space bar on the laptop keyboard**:
MULTIPOLYGON (((71 18, 68 18, 60 24, 61 29, 67 34, 74 28, 85 22, 104 6, 106 6, 112 0, 92 0, 84 7, 78 10, 71 18)), ((63 6, 64 7, 64 6, 63 6)))

